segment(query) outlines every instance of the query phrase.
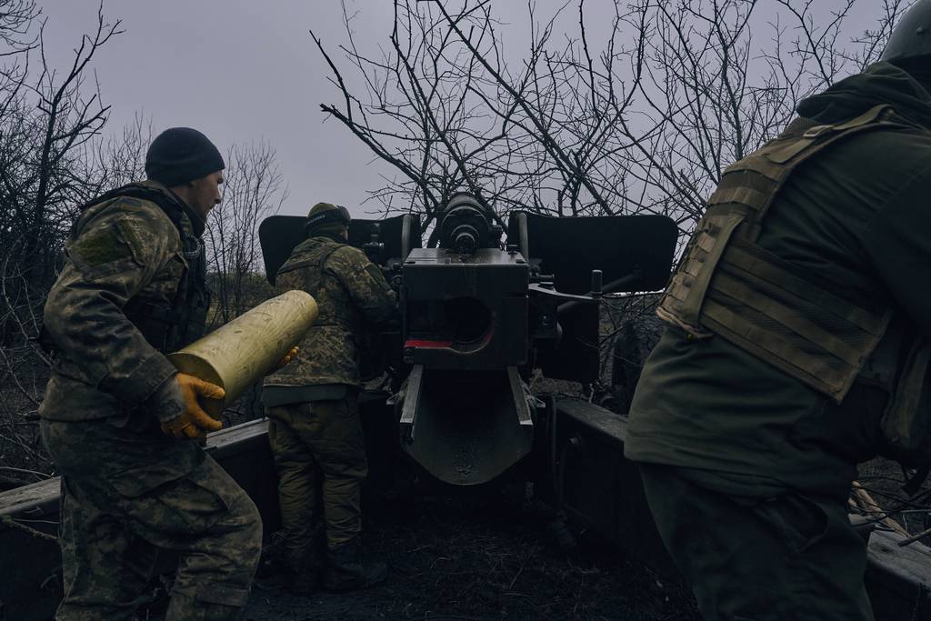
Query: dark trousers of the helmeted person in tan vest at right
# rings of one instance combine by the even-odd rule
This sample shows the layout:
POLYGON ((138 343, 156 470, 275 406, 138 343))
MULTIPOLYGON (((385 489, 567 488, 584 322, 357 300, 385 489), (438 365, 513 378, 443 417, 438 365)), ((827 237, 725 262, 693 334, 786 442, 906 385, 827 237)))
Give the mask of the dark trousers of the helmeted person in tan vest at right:
POLYGON ((656 526, 707 621, 872 621, 866 546, 843 502, 733 497, 641 464, 656 526))

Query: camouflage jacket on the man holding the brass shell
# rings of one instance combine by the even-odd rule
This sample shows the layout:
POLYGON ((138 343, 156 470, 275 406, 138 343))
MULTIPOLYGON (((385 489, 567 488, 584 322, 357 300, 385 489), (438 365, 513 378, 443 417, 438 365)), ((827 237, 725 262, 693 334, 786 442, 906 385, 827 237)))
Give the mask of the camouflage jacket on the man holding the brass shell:
MULTIPOLYGON (((180 203, 164 186, 143 184, 180 203)), ((194 231, 187 216, 182 228, 194 231)), ((176 372, 124 308, 174 300, 188 266, 178 228, 154 202, 120 196, 81 214, 65 255, 45 306, 57 356, 39 414, 61 421, 125 414, 176 372)))

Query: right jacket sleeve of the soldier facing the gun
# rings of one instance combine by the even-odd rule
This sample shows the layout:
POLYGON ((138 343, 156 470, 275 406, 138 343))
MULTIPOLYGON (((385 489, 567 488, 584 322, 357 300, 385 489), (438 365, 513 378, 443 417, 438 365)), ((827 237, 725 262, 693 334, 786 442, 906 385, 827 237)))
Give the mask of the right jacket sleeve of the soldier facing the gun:
POLYGON ((353 304, 371 323, 383 323, 397 312, 395 292, 362 250, 352 246, 336 250, 327 262, 327 272, 340 281, 353 304))

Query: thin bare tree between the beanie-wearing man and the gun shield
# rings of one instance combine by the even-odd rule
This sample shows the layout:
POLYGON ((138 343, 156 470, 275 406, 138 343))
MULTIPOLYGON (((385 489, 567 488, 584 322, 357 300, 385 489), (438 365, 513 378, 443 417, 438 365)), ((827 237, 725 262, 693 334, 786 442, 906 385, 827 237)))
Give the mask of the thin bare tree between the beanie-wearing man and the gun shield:
POLYGON ((268 296, 259 223, 288 196, 267 142, 239 144, 226 155, 223 202, 210 211, 207 247, 214 304, 211 324, 225 323, 268 296))

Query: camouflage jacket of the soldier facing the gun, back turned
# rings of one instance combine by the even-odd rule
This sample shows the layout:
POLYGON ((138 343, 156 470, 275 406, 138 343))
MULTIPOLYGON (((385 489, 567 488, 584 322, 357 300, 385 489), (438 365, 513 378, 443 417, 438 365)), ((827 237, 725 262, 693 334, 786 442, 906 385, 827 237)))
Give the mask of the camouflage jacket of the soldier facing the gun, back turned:
POLYGON ((384 322, 397 308, 378 267, 361 250, 330 237, 311 237, 278 270, 276 289, 307 291, 319 313, 300 353, 265 385, 360 385, 359 337, 367 324, 384 322))

